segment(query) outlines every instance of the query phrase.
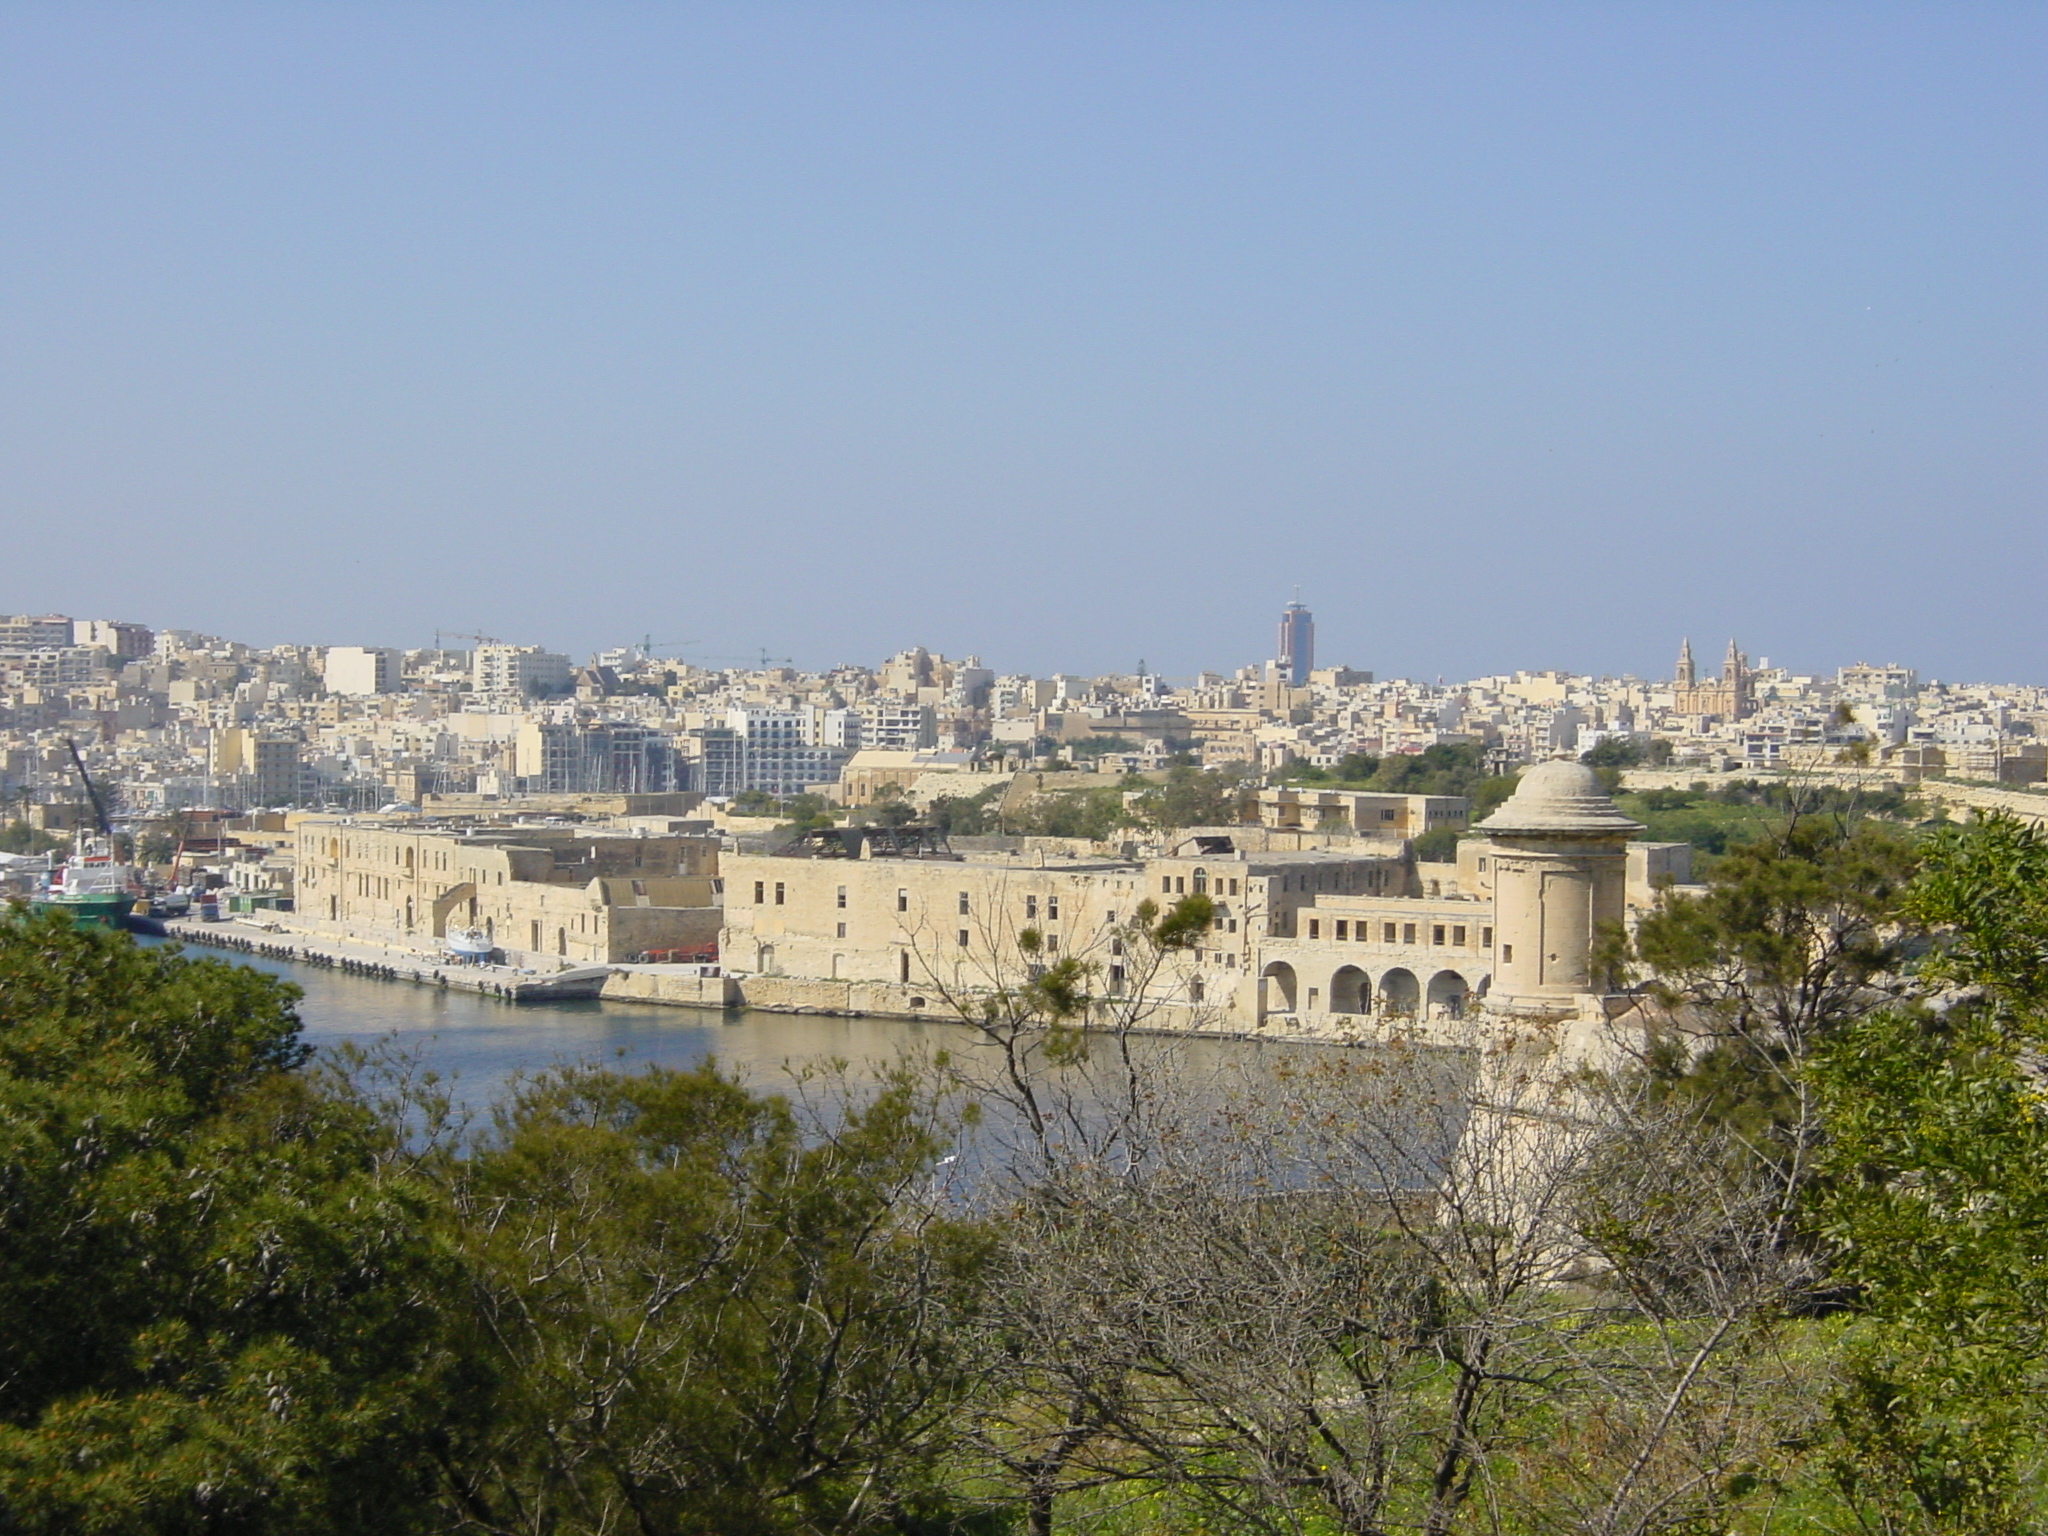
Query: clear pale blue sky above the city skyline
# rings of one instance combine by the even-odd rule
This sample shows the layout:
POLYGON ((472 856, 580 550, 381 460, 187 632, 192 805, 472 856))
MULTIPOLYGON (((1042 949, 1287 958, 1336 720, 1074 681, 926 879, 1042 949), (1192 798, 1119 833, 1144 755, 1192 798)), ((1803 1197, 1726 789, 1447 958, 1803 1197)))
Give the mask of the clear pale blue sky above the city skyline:
POLYGON ((0 4, 0 608, 2048 682, 2038 4, 0 4))

